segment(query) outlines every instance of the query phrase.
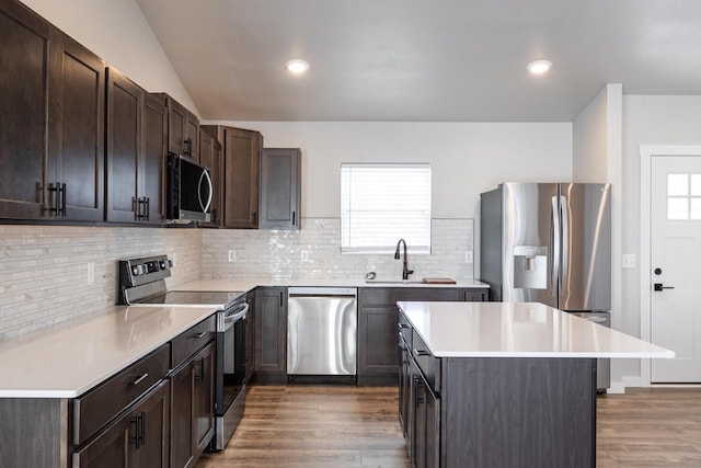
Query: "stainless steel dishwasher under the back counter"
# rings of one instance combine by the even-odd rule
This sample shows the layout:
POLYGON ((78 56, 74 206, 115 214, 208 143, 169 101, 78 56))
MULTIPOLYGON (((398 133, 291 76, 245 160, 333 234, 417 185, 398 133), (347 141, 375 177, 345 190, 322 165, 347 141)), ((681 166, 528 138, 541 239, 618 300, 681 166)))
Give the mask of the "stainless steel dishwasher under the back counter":
POLYGON ((356 299, 356 288, 288 288, 288 381, 355 383, 356 299))

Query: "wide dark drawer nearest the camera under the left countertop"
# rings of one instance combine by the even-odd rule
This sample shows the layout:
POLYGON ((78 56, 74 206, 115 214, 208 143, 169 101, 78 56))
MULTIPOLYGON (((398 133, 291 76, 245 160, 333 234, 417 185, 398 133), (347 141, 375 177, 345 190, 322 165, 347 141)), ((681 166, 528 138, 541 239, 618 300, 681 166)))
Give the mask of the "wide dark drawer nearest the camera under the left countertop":
POLYGON ((114 377, 73 400, 74 445, 80 445, 100 427, 127 408, 169 369, 170 345, 164 344, 148 356, 131 364, 114 377))

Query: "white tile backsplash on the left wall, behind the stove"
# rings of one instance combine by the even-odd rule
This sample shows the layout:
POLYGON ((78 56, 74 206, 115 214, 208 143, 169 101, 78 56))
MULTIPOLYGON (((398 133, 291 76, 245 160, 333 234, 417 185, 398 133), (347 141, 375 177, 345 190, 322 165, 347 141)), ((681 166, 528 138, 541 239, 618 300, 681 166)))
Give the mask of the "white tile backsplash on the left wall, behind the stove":
POLYGON ((171 284, 199 279, 196 229, 0 226, 0 341, 113 306, 117 261, 159 253, 171 284))

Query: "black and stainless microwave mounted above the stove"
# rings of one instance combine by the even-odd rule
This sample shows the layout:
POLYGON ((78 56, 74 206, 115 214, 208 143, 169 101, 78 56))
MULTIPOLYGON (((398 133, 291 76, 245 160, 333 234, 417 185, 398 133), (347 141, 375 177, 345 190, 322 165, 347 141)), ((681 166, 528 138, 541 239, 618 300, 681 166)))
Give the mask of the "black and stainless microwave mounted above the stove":
POLYGON ((168 155, 165 214, 170 222, 209 221, 209 170, 187 158, 168 155))

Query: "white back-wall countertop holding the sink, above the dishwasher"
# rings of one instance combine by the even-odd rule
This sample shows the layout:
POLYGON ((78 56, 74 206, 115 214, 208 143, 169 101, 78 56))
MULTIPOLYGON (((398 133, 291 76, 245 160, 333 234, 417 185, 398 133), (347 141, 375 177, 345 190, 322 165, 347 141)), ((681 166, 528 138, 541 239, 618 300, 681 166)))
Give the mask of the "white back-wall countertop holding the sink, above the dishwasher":
POLYGON ((476 279, 456 279, 456 284, 429 284, 417 282, 382 282, 383 278, 366 283, 365 278, 355 279, 319 279, 319 278, 229 278, 199 279, 171 286, 172 290, 225 290, 246 292, 256 286, 329 286, 329 287, 461 287, 489 288, 490 285, 476 279))

